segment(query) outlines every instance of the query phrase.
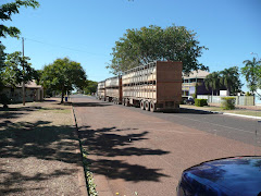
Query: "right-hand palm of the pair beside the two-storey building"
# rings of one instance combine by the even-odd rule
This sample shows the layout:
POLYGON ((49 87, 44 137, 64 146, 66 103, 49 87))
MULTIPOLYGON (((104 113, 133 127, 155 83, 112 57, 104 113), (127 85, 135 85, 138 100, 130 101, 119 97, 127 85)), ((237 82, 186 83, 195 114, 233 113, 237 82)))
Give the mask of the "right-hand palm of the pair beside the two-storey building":
POLYGON ((232 66, 220 72, 221 84, 224 85, 228 94, 236 94, 240 90, 243 84, 239 79, 239 73, 237 66, 232 66))

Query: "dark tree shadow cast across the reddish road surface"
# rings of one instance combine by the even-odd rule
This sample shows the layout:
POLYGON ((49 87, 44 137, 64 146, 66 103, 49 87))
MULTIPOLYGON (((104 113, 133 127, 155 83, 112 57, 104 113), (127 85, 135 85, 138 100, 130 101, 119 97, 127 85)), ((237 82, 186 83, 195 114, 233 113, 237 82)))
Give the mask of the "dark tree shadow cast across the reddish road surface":
POLYGON ((120 160, 123 156, 162 156, 170 152, 161 149, 134 147, 135 143, 148 139, 146 138, 148 132, 128 134, 125 131, 134 130, 116 127, 91 130, 89 126, 79 128, 82 145, 89 154, 101 157, 95 160, 88 158, 90 171, 109 179, 124 179, 133 182, 159 182, 160 177, 167 177, 169 175, 161 173, 160 169, 150 169, 146 166, 130 164, 127 161, 120 160))

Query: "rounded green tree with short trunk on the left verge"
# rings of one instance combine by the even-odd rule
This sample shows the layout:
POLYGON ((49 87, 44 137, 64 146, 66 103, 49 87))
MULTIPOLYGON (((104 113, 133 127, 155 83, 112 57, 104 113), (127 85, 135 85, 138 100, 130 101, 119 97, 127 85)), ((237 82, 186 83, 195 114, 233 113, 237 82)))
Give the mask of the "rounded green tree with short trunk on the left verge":
POLYGON ((45 88, 60 91, 61 103, 66 90, 74 87, 84 88, 86 85, 86 73, 82 65, 67 58, 57 59, 52 64, 46 65, 41 73, 41 84, 45 88))

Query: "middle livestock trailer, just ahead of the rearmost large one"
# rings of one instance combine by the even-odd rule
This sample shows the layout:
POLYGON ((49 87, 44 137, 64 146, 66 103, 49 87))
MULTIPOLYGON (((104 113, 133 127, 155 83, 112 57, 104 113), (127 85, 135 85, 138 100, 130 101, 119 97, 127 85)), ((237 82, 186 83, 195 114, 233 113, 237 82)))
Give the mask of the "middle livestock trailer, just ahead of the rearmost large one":
POLYGON ((105 79, 105 100, 116 105, 122 103, 122 77, 121 75, 105 79))

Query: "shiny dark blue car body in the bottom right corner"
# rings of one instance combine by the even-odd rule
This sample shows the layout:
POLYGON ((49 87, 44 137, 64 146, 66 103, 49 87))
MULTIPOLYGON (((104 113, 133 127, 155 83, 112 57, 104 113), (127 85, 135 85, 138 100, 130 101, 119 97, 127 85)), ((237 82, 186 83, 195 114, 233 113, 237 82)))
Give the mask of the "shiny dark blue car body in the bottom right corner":
POLYGON ((261 196, 261 157, 234 157, 185 170, 178 196, 261 196))

